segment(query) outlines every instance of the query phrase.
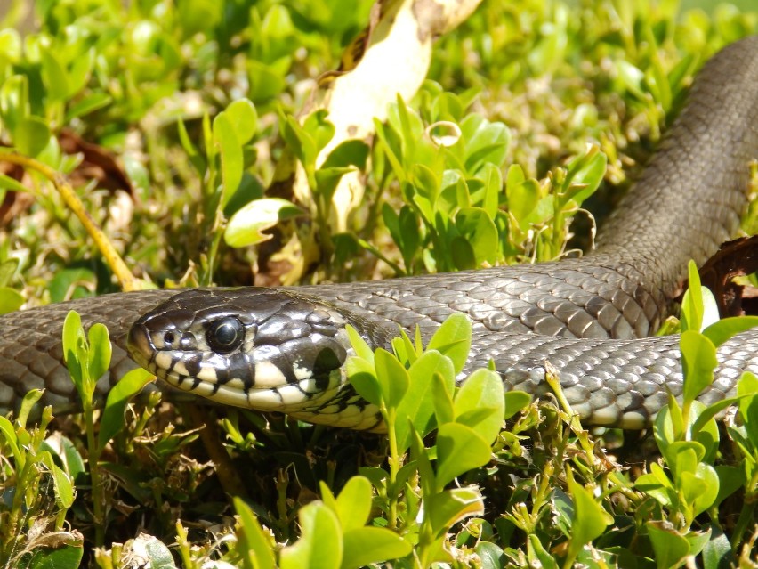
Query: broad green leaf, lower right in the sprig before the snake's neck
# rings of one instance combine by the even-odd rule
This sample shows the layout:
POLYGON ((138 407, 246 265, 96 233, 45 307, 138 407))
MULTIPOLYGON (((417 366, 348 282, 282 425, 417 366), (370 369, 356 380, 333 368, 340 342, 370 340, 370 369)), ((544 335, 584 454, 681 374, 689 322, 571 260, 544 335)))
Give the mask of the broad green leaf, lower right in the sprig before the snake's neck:
POLYGON ((437 488, 489 462, 489 444, 471 427, 446 423, 437 431, 437 488))

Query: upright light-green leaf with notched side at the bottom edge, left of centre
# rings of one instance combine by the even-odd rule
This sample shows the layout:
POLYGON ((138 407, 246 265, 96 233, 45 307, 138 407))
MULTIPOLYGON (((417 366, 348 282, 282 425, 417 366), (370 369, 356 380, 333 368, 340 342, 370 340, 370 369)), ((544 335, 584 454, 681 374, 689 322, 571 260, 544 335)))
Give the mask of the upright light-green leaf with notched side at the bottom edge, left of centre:
POLYGON ((343 562, 343 536, 336 514, 321 502, 310 502, 298 515, 302 533, 282 549, 281 569, 335 569, 343 562))

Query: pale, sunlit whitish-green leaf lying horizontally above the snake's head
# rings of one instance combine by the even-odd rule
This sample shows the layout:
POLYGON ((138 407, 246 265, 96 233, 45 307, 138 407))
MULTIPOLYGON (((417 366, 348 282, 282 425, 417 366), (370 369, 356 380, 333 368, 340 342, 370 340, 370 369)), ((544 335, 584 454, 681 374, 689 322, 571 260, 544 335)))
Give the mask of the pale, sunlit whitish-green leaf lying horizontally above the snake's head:
POLYGON ((305 215, 305 212, 286 199, 254 199, 231 216, 223 239, 227 245, 234 248, 257 245, 271 239, 271 235, 264 231, 287 219, 302 215, 305 215))

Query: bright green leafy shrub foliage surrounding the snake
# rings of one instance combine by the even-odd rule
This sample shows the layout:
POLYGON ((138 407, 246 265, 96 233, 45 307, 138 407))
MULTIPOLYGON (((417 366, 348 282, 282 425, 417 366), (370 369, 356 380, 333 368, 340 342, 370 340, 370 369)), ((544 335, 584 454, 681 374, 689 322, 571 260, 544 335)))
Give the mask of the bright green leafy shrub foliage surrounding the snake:
MULTIPOLYGON (((343 142, 317 164, 334 118, 299 113, 371 0, 39 2, 39 28, 25 32, 14 26, 29 3, 10 4, 3 143, 71 175, 133 266, 182 284, 246 284, 251 266, 290 283, 560 257, 572 217, 627 183, 692 73, 758 31, 750 7, 484 0, 439 37, 423 88, 391 106, 371 150, 343 142), (70 150, 69 134, 92 147, 70 150), (116 157, 93 182, 91 150, 116 157), (302 166, 304 195, 282 190, 286 162, 302 166), (345 206, 332 197, 354 172, 367 193, 339 211, 338 233, 345 206), (283 275, 287 266, 299 272, 283 275)), ((113 290, 60 199, 37 175, 17 176, 0 174, 0 197, 27 191, 36 203, 0 240, 0 312, 113 290)), ((696 395, 716 347, 755 321, 716 321, 693 275, 687 385, 652 439, 591 436, 560 389, 557 408, 537 406, 501 394, 489 370, 457 387, 470 330, 453 319, 425 349, 419 337, 399 338, 393 354, 355 345, 352 381, 382 408, 386 440, 228 411, 218 444, 253 496, 235 498, 236 520, 181 407, 153 397, 125 411, 143 378, 119 384, 97 415, 107 337, 72 321, 69 362, 90 410, 59 422, 62 438, 45 433, 47 414, 37 427, 25 410, 0 419, 0 565, 123 567, 137 551, 185 567, 748 566, 758 380, 747 374, 734 398, 708 407, 696 395), (741 419, 720 432, 729 405, 741 419), (110 549, 90 554, 98 542, 110 549)))

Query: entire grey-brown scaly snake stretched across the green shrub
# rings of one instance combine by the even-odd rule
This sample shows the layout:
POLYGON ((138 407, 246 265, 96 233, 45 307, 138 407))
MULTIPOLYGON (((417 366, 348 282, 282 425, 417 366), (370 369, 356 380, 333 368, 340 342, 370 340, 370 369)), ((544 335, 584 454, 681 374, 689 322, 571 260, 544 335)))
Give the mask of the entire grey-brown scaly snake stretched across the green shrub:
MULTIPOLYGON (((507 390, 549 393, 558 370, 571 409, 587 425, 644 428, 681 397, 678 335, 652 336, 675 313, 689 259, 702 264, 738 232, 758 157, 758 37, 716 53, 688 102, 585 256, 385 280, 292 288, 208 288, 115 293, 0 317, 0 412, 29 389, 38 408, 77 410, 64 365, 62 322, 77 310, 102 322, 113 344, 96 396, 137 365, 168 399, 280 411, 334 427, 381 430, 375 405, 346 378, 350 324, 372 348, 400 329, 424 341, 448 316, 472 322, 464 370, 494 363, 507 390), (197 398, 196 398, 197 399, 197 398)), ((758 332, 718 347, 704 403, 735 394, 758 372, 758 332)), ((430 379, 431 380, 431 379, 430 379)))

